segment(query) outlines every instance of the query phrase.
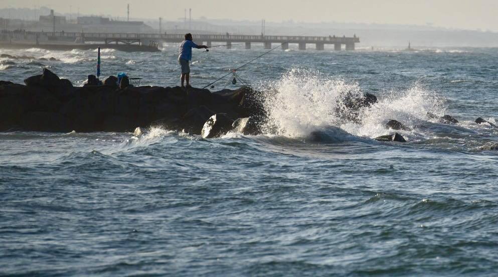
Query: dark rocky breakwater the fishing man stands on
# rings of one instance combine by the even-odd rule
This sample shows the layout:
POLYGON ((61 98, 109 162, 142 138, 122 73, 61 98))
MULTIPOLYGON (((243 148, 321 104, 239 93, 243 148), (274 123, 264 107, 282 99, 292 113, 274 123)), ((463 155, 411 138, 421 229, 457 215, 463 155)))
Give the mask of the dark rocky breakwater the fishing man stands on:
POLYGON ((24 85, 0 81, 0 131, 133 131, 137 126, 161 125, 201 134, 214 115, 230 118, 209 121, 215 130, 219 124, 234 121, 241 128, 238 118, 251 118, 245 120, 251 124, 264 118, 258 92, 248 87, 211 92, 118 86, 114 78, 109 77, 104 85, 74 87, 69 80, 44 69, 43 74, 27 78, 24 85))

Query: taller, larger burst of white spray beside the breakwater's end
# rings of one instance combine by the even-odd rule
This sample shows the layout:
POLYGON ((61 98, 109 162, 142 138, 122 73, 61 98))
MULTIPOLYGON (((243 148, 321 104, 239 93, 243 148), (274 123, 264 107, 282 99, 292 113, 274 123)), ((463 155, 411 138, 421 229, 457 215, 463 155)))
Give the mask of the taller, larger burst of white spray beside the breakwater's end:
POLYGON ((266 129, 288 137, 302 137, 320 126, 337 123, 335 110, 342 106, 342 97, 362 95, 357 83, 300 68, 291 69, 268 87, 266 129))

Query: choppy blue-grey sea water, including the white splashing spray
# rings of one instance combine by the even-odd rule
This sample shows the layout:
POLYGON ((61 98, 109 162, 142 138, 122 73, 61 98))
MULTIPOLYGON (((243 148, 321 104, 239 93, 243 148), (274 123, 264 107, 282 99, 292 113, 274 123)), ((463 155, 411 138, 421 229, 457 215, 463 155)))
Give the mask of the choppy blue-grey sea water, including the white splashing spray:
MULTIPOLYGON (((265 51, 194 50, 192 84, 265 51)), ((102 52, 103 75, 179 82, 177 45, 102 52)), ((1 59, 20 83, 48 67, 82 85, 96 64, 0 54, 35 57, 1 59)), ((238 72, 267 92, 263 135, 0 132, 0 275, 494 276, 498 128, 473 121, 498 123, 497 64, 496 48, 277 49, 238 72), (334 116, 361 92, 379 102, 359 122, 334 116), (373 140, 389 119, 407 143, 373 140)))

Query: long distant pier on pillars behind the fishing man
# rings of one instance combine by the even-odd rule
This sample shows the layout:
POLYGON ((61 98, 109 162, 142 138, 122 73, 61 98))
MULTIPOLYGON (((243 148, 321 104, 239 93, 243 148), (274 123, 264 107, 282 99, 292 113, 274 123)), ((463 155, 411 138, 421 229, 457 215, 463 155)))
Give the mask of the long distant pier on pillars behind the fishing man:
MULTIPOLYGON (((182 34, 138 34, 138 33, 72 33, 72 32, 46 32, 49 40, 118 43, 126 41, 139 45, 150 45, 151 42, 182 42, 182 34)), ((355 50, 355 43, 360 38, 354 37, 315 37, 315 36, 251 36, 251 35, 203 35, 194 34, 194 41, 211 46, 213 42, 223 44, 245 43, 245 48, 250 49, 252 43, 262 43, 265 49, 271 49, 272 44, 281 44, 282 49, 288 49, 289 44, 297 44, 299 50, 306 50, 307 44, 314 44, 316 50, 323 50, 325 44, 333 44, 334 50, 355 50)), ((274 47, 274 46, 273 46, 274 47)), ((231 46, 227 46, 231 48, 231 46)))

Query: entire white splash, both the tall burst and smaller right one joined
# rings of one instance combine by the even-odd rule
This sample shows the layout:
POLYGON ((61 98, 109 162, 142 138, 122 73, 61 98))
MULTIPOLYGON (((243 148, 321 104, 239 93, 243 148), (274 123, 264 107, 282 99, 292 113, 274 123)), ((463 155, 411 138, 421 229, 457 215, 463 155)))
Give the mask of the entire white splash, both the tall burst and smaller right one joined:
POLYGON ((345 95, 363 95, 358 83, 294 68, 267 87, 267 132, 288 137, 303 137, 326 126, 337 126, 356 136, 373 138, 392 132, 385 126, 389 119, 415 126, 427 119, 428 111, 444 114, 442 101, 419 84, 406 91, 391 91, 387 97, 378 95, 376 104, 361 110, 359 122, 346 121, 335 112, 344 107, 345 95))

